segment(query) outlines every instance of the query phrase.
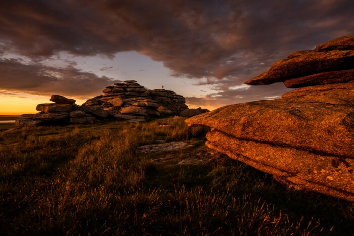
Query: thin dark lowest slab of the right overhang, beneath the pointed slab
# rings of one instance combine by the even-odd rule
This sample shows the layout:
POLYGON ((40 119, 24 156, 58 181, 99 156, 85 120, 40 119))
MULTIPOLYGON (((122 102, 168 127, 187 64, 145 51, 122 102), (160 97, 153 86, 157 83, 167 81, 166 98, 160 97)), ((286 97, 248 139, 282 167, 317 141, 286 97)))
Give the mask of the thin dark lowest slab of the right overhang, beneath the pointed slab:
POLYGON ((288 88, 297 88, 320 84, 343 83, 352 80, 354 80, 354 69, 322 72, 300 78, 288 79, 284 81, 284 85, 288 88))

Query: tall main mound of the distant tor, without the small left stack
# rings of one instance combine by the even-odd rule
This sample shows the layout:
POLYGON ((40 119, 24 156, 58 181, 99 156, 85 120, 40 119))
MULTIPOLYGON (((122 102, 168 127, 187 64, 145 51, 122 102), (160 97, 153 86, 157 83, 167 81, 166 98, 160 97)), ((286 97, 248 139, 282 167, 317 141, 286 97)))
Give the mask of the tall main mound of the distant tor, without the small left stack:
POLYGON ((135 80, 115 83, 103 89, 103 95, 87 100, 83 106, 100 106, 118 119, 146 119, 177 115, 188 109, 186 99, 174 91, 148 90, 135 80))

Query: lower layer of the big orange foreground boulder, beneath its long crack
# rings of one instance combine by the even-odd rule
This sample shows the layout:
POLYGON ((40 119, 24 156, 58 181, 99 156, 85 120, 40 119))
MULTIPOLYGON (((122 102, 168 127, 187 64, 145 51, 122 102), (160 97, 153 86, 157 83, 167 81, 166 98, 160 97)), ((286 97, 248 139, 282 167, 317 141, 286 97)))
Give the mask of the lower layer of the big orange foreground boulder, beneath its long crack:
POLYGON ((209 148, 273 174, 279 182, 354 201, 352 158, 243 140, 217 130, 209 132, 207 139, 209 148))

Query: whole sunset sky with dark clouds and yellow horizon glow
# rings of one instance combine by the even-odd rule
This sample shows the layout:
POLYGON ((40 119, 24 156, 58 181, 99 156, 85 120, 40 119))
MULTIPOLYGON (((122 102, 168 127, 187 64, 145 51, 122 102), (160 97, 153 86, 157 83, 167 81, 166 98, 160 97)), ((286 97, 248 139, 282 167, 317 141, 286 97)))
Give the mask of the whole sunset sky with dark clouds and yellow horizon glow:
POLYGON ((352 0, 0 0, 0 115, 137 80, 190 108, 276 99, 243 84, 288 54, 354 34, 352 0))

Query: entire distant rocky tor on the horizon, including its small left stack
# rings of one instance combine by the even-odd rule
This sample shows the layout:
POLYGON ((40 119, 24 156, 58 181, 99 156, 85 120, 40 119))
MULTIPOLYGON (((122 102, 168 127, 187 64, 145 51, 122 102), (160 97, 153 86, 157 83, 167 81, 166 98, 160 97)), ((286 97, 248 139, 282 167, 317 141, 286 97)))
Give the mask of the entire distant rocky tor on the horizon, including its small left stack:
POLYGON ((98 120, 145 121, 179 115, 190 116, 208 112, 207 109, 188 109, 185 98, 164 89, 148 90, 135 80, 115 83, 103 89, 103 95, 87 100, 81 106, 75 100, 52 95, 54 103, 38 104, 37 114, 24 114, 17 126, 62 125, 94 123, 98 120), (193 111, 196 110, 197 112, 193 111))

